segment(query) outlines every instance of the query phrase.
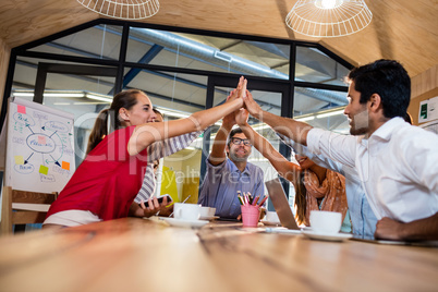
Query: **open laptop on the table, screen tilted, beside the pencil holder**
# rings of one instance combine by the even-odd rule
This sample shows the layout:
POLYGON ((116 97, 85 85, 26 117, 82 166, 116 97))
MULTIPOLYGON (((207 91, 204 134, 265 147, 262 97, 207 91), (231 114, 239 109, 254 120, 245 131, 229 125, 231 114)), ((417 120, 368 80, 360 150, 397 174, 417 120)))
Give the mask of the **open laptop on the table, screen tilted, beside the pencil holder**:
POLYGON ((301 229, 296 224, 295 217, 289 206, 288 197, 284 193, 283 186, 278 178, 265 182, 266 188, 270 200, 272 202, 273 208, 280 219, 282 228, 267 228, 267 232, 279 232, 279 233, 301 233, 301 229))

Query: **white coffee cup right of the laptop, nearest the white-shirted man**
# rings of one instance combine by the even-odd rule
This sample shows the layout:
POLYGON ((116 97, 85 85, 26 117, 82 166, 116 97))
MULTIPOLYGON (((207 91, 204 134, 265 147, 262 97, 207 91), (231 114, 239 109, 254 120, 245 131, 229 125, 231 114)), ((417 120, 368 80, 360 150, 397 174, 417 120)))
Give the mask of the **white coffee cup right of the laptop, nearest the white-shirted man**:
POLYGON ((311 227, 316 233, 336 234, 341 230, 342 214, 334 211, 311 211, 311 227))

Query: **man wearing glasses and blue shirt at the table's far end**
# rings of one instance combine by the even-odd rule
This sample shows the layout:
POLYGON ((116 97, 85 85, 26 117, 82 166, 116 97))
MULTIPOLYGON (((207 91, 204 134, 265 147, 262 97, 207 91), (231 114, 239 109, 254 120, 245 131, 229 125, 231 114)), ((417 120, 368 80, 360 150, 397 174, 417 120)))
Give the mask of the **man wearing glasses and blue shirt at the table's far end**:
POLYGON ((240 127, 232 129, 234 124, 234 113, 223 118, 199 187, 198 204, 216 208, 216 216, 226 219, 236 219, 241 215, 238 191, 250 192, 260 199, 265 194, 264 172, 247 162, 252 145, 240 127))

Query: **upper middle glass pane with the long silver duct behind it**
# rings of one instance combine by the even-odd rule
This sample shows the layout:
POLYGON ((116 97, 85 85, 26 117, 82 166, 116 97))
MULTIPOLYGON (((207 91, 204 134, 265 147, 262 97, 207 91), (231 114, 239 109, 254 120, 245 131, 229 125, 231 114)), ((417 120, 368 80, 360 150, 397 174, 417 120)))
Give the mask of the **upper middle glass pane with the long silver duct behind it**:
POLYGON ((126 60, 289 80, 290 46, 131 27, 126 60))

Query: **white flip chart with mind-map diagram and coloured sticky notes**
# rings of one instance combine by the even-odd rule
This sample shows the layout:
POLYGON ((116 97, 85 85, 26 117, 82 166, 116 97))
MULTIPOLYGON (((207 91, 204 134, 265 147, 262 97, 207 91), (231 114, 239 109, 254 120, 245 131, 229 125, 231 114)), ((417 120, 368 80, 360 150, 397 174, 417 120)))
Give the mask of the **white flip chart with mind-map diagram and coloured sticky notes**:
POLYGON ((60 192, 75 170, 74 115, 12 97, 7 122, 5 185, 60 192))

